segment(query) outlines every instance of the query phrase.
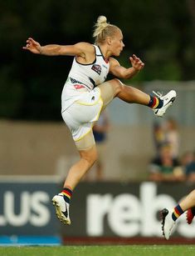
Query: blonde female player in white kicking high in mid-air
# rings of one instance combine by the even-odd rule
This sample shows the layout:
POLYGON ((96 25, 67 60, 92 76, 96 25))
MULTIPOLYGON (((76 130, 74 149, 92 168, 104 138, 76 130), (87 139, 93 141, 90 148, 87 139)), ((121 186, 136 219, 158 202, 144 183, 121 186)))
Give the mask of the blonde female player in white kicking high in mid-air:
POLYGON ((118 57, 124 48, 123 34, 118 27, 107 23, 105 16, 97 19, 93 36, 95 44, 41 46, 32 38, 28 38, 27 45, 23 47, 42 55, 74 56, 61 94, 61 115, 71 130, 80 160, 69 170, 61 193, 52 199, 57 217, 66 224, 71 223, 69 205, 72 191, 97 159, 92 127, 101 110, 117 97, 126 103, 149 106, 155 115, 162 117, 176 98, 176 92, 173 90, 165 96, 157 94, 157 97, 152 97, 120 82, 119 78, 133 78, 144 68, 144 63, 134 54, 129 58, 130 68, 120 66, 114 57, 118 57), (115 78, 105 82, 108 73, 113 74, 115 78))

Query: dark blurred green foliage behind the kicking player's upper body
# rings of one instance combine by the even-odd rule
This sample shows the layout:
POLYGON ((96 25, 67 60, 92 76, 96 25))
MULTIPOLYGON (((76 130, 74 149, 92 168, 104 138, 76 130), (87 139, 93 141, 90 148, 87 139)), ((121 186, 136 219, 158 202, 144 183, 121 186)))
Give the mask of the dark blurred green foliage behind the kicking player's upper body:
POLYGON ((93 43, 99 15, 119 26, 125 51, 119 63, 129 67, 135 53, 145 68, 134 82, 193 80, 195 17, 193 0, 10 0, 0 3, 0 116, 61 119, 61 89, 72 58, 48 58, 22 51, 28 37, 42 45, 93 43), (45 114, 42 115, 42 111, 45 114))

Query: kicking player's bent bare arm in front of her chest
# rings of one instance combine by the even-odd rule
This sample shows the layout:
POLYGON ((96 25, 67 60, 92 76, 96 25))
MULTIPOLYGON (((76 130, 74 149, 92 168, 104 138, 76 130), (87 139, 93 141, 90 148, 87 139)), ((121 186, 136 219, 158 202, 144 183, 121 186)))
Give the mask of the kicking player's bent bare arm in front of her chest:
POLYGON ((133 78, 134 75, 144 68, 144 63, 136 55, 129 58, 132 67, 124 68, 120 66, 119 62, 115 58, 111 58, 110 73, 114 74, 117 78, 133 78))

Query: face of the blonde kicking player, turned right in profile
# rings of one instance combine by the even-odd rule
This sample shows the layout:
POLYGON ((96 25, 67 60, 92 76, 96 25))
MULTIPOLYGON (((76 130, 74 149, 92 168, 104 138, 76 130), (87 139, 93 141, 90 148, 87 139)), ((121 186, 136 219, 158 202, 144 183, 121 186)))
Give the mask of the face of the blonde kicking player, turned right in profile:
POLYGON ((111 38, 110 48, 114 56, 119 56, 119 54, 122 52, 124 43, 123 34, 120 30, 117 30, 115 35, 111 38))

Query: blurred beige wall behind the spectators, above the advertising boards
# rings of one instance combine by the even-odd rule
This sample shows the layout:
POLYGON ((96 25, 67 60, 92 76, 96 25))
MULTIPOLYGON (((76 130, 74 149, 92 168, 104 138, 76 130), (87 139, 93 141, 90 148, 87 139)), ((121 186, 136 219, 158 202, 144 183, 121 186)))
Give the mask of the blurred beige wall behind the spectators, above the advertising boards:
MULTIPOLYGON (((195 129, 183 127, 180 134, 180 153, 193 150, 195 129)), ((147 164, 154 156, 152 135, 149 126, 113 124, 104 159, 105 178, 146 177, 147 164)), ((78 153, 64 123, 0 121, 0 174, 66 175, 76 159, 78 153)))

